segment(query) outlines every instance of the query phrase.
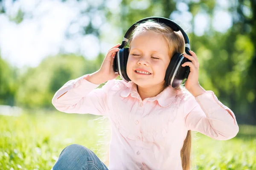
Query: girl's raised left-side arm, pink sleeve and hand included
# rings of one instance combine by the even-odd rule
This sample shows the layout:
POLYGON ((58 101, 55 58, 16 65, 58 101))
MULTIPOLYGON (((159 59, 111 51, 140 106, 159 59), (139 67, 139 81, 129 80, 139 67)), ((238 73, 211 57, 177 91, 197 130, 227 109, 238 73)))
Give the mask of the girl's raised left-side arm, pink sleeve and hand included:
POLYGON ((107 94, 118 76, 113 70, 113 62, 119 45, 108 51, 99 71, 70 80, 55 93, 52 104, 57 110, 66 113, 108 114, 107 94), (106 81, 103 88, 97 88, 106 81))

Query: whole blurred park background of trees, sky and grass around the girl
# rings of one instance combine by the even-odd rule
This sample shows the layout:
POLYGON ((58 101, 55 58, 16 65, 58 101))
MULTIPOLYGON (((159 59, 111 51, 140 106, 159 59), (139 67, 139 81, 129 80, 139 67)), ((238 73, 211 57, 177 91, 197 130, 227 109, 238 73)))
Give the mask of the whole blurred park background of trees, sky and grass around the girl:
POLYGON ((0 169, 49 170, 73 143, 108 165, 108 121, 60 113, 51 100, 65 82, 97 71, 127 29, 150 16, 186 30, 201 86, 239 123, 228 141, 194 132, 193 168, 256 169, 255 0, 0 0, 0 169))

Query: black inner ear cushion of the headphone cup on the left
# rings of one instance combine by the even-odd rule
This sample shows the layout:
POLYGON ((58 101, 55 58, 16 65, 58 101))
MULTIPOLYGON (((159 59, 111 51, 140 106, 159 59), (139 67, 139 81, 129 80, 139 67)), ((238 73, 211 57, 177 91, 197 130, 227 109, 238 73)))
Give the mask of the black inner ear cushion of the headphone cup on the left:
POLYGON ((129 57, 129 48, 120 48, 119 49, 119 64, 120 64, 119 75, 125 82, 131 81, 126 71, 128 57, 129 57))

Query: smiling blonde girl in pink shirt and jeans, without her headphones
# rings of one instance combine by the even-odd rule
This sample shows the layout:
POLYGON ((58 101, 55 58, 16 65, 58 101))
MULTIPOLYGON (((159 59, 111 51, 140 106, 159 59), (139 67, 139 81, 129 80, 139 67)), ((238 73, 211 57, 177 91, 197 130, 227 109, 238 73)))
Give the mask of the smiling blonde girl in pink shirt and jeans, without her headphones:
POLYGON ((99 71, 70 80, 52 99, 55 108, 65 113, 108 117, 112 129, 109 167, 88 148, 71 144, 53 170, 189 170, 191 130, 216 140, 238 133, 234 113, 199 85, 199 63, 193 51, 184 54, 191 61, 182 65, 190 67, 186 89, 166 85, 171 56, 185 49, 179 32, 149 21, 136 27, 129 42, 131 82, 115 79, 113 58, 118 44, 108 51, 99 71))

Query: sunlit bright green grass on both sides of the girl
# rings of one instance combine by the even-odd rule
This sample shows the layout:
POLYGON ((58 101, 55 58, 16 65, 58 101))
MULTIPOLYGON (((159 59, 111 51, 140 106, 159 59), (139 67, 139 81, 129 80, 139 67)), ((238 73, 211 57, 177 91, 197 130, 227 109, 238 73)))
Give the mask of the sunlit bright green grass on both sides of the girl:
MULTIPOLYGON (((90 148, 108 165, 108 144, 103 143, 108 143, 110 130, 106 120, 96 118, 59 112, 0 115, 0 170, 50 170, 61 150, 73 143, 90 148)), ((193 132, 193 168, 256 170, 256 126, 239 128, 238 135, 227 141, 193 132)))

